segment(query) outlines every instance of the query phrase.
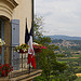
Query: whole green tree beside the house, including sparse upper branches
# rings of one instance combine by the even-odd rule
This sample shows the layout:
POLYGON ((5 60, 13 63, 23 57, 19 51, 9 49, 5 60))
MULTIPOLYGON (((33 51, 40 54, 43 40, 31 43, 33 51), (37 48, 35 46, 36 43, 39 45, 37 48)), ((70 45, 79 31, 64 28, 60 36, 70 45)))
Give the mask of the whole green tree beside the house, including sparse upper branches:
POLYGON ((51 45, 50 37, 42 37, 42 19, 41 17, 36 17, 35 19, 35 37, 33 41, 40 44, 45 45, 48 49, 42 50, 41 53, 36 53, 36 62, 38 60, 37 68, 42 69, 42 76, 36 78, 35 81, 51 81, 63 72, 67 66, 64 63, 58 63, 54 51, 58 49, 56 45, 51 45), (38 59, 39 58, 39 59, 38 59))

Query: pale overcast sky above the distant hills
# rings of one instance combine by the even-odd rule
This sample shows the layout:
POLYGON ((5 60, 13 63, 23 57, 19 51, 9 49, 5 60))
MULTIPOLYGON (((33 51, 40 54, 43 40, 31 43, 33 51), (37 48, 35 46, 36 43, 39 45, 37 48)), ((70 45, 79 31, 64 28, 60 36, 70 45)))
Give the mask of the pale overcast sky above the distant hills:
POLYGON ((81 37, 81 0, 35 0, 35 14, 44 18, 44 36, 81 37))

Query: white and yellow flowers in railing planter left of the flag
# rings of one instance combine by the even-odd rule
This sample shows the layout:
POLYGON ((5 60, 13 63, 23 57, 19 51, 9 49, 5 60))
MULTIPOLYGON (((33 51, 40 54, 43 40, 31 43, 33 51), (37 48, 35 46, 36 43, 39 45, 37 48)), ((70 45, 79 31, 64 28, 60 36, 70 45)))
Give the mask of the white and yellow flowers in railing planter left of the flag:
POLYGON ((25 43, 25 44, 16 45, 14 51, 18 52, 18 53, 27 53, 28 52, 28 48, 29 48, 29 45, 27 45, 25 43))

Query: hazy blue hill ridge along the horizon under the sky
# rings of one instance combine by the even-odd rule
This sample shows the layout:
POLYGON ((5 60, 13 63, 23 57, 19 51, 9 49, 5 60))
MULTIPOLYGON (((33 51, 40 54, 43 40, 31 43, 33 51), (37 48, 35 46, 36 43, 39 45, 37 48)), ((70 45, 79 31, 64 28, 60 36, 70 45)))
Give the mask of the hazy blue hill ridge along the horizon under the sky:
POLYGON ((62 40, 81 40, 81 37, 69 37, 69 36, 48 36, 50 37, 52 40, 54 39, 62 39, 62 40))

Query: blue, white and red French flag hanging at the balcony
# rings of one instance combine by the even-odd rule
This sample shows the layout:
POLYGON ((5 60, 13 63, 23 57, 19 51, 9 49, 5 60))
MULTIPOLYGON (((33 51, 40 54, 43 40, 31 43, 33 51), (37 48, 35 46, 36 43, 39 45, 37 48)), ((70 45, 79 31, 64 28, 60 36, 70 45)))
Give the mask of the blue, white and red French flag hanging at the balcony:
POLYGON ((28 32, 27 21, 26 21, 25 43, 29 45, 27 64, 31 63, 31 66, 36 69, 35 51, 32 48, 32 24, 30 32, 28 32))

